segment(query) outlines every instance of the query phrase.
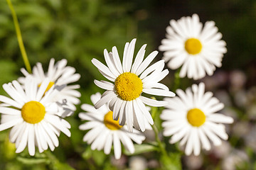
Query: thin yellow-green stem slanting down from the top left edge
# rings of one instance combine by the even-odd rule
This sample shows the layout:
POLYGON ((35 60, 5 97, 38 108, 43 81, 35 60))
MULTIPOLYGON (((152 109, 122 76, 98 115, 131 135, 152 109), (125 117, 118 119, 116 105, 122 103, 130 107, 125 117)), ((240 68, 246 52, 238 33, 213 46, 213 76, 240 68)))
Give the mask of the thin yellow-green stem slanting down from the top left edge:
POLYGON ((29 64, 28 56, 26 55, 26 50, 25 50, 25 47, 24 47, 24 44, 23 44, 23 40, 22 40, 22 36, 21 36, 21 29, 19 28, 19 25, 18 25, 18 18, 16 16, 14 6, 11 4, 11 0, 6 0, 6 1, 7 1, 7 4, 9 5, 10 10, 11 10, 11 16, 14 19, 14 27, 15 27, 16 34, 17 34, 18 46, 20 47, 21 55, 23 57, 23 62, 26 66, 26 69, 27 69, 28 73, 32 73, 31 72, 31 65, 29 64))

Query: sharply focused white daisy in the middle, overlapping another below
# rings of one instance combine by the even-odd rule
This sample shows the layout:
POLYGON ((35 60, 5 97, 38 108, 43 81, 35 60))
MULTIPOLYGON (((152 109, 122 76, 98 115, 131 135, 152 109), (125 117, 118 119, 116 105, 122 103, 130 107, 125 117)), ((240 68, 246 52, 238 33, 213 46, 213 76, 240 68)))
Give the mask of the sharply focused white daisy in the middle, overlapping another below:
POLYGON ((99 69, 100 73, 114 82, 112 84, 109 81, 95 80, 97 86, 107 90, 102 94, 100 101, 95 103, 95 108, 100 108, 110 101, 109 107, 113 111, 114 120, 119 118, 119 125, 124 125, 127 122, 130 132, 132 132, 133 126, 137 130, 144 131, 145 122, 153 125, 154 121, 145 104, 156 107, 166 105, 166 101, 146 98, 142 96, 142 92, 157 96, 175 96, 167 86, 159 83, 169 73, 167 69, 164 69, 164 60, 148 67, 156 57, 157 51, 151 52, 143 61, 146 47, 143 45, 132 64, 135 42, 136 39, 133 39, 132 42, 126 43, 122 64, 117 47, 112 47, 110 53, 106 49, 104 50, 107 66, 96 59, 92 59, 92 63, 99 69))

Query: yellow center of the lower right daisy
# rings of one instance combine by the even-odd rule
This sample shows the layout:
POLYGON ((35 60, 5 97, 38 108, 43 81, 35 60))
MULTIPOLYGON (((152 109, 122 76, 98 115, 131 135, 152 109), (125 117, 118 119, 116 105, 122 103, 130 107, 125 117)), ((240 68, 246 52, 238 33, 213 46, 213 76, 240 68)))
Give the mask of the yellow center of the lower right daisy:
POLYGON ((187 113, 188 123, 193 126, 199 127, 206 122, 206 115, 198 108, 193 108, 187 113))

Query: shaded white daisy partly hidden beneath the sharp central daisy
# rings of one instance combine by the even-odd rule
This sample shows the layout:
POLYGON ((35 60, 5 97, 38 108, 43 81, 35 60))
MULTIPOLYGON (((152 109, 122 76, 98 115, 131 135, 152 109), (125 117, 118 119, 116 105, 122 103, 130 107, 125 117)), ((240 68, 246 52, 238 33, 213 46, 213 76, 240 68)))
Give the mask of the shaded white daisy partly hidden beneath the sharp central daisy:
MULTIPOLYGON (((91 101, 95 104, 100 100, 100 93, 91 96, 91 101)), ((119 159, 122 153, 121 142, 125 149, 134 153, 133 142, 141 144, 145 140, 145 136, 142 132, 133 129, 133 132, 129 132, 127 125, 119 125, 117 120, 113 120, 113 112, 103 105, 102 107, 95 109, 89 104, 82 104, 81 108, 87 113, 79 113, 79 117, 82 120, 88 120, 86 123, 80 125, 80 130, 89 130, 83 141, 88 144, 92 144, 91 148, 101 150, 104 148, 105 154, 110 154, 112 144, 114 145, 114 157, 119 159), (90 130, 91 129, 91 130, 90 130), (121 142, 120 142, 121 141, 121 142)))

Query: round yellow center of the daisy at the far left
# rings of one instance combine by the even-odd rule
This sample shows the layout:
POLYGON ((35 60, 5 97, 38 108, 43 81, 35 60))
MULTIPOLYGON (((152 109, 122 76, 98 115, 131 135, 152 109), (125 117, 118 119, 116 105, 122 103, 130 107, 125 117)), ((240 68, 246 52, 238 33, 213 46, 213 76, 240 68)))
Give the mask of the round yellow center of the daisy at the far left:
POLYGON ((38 101, 28 101, 21 108, 21 116, 27 123, 39 123, 44 115, 46 115, 46 108, 38 101))

